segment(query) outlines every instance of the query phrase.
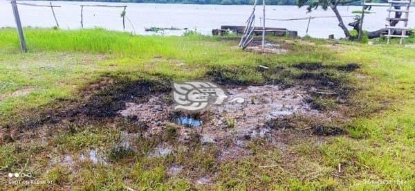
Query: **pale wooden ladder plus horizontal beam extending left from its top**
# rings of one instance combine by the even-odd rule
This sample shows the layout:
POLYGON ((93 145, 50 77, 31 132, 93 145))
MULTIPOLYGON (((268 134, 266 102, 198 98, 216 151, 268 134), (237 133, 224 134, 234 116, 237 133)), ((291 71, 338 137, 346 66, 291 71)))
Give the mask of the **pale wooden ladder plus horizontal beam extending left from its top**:
MULTIPOLYGON (((391 37, 400 37, 400 41, 399 44, 403 43, 403 39, 408 37, 406 35, 407 30, 409 30, 408 28, 408 20, 409 20, 409 7, 411 6, 411 1, 412 0, 403 0, 403 1, 393 1, 393 0, 389 0, 387 1, 387 3, 371 3, 371 2, 366 2, 367 0, 363 1, 363 6, 378 6, 378 7, 389 7, 387 9, 388 13, 388 17, 386 18, 386 20, 388 21, 387 23, 387 35, 385 35, 387 37, 387 44, 389 44, 391 37), (400 8, 403 9, 394 9, 395 5, 400 5, 400 8), (402 12, 404 17, 402 18, 394 18, 391 17, 391 12, 402 12), (396 27, 396 26, 389 26, 390 25, 390 21, 403 21, 403 27, 396 27), (402 30, 402 33, 400 35, 392 35, 392 31, 394 29, 400 29, 402 30)), ((371 0, 368 0, 371 1, 371 0)))

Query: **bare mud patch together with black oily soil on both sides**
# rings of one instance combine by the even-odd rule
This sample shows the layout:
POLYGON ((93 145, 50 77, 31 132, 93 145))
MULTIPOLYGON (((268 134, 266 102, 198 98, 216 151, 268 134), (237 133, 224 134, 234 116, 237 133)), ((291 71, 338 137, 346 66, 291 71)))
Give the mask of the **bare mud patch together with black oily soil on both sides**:
MULTIPOLYGON (((353 91, 347 81, 336 78, 321 63, 300 63, 293 68, 301 73, 291 73, 283 66, 213 67, 207 73, 208 79, 222 84, 230 98, 243 98, 245 102, 225 102, 199 113, 172 109, 169 78, 103 75, 80 90, 79 99, 55 100, 28 120, 8 124, 6 134, 14 128, 36 129, 44 125, 59 128, 68 124, 122 123, 120 130, 142 138, 167 135, 183 145, 215 145, 220 161, 250 154, 249 144, 258 138, 283 148, 286 140, 293 137, 344 134, 341 127, 332 125, 338 122, 333 119, 343 120, 344 113, 315 107, 314 100, 347 100, 353 91), (247 77, 252 75, 260 79, 249 80, 247 77)), ((356 66, 334 70, 346 73, 351 69, 356 66)))

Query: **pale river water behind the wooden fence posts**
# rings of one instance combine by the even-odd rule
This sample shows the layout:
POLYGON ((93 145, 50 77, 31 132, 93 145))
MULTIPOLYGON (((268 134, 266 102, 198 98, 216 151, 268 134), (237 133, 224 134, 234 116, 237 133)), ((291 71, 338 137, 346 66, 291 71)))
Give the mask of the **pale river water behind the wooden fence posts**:
MULTIPOLYGON (((24 3, 35 3, 48 5, 49 1, 19 1, 24 3)), ((77 1, 53 1, 53 5, 61 6, 55 8, 59 26, 63 29, 77 29, 80 24, 80 5, 126 5, 127 18, 126 31, 151 35, 152 32, 145 32, 145 28, 175 27, 192 28, 210 35, 213 28, 220 28, 221 25, 244 25, 246 19, 252 12, 252 6, 224 6, 224 5, 191 5, 191 4, 156 4, 156 3, 102 3, 102 2, 77 2, 77 1), (131 21, 131 22, 130 22, 131 21)), ((53 27, 55 20, 48 7, 33 7, 19 5, 21 22, 24 26, 53 27)), ((341 15, 353 15, 353 10, 361 10, 360 6, 341 6, 341 15)), ((365 30, 377 30, 385 26, 387 7, 374 7, 371 14, 365 15, 365 30)), ((84 28, 102 27, 109 30, 123 30, 120 14, 122 8, 84 7, 84 28)), ((257 7, 256 26, 260 26, 262 8, 257 7)), ((270 19, 293 19, 309 16, 334 16, 332 10, 313 10, 307 13, 306 8, 297 6, 266 6, 266 17, 270 19)), ((414 12, 409 15, 409 27, 415 27, 414 12), (413 19, 412 19, 413 18, 413 19)), ((15 27, 12 9, 9 1, 0 1, 0 27, 15 27)), ((353 17, 344 17, 344 23, 353 21, 353 17)), ((288 28, 297 30, 300 36, 306 35, 308 20, 299 21, 273 21, 266 20, 266 26, 288 28)), ((351 27, 350 27, 351 28, 351 27)), ((165 31, 165 35, 180 35, 183 31, 165 31)), ((328 37, 334 34, 335 37, 343 37, 342 30, 338 27, 336 18, 312 19, 308 35, 312 37, 328 37)))

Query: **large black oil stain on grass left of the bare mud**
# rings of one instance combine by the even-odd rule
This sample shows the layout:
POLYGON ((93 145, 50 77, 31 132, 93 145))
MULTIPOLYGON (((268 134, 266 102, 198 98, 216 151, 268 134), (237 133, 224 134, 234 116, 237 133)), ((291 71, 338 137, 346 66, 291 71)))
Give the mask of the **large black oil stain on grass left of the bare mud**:
POLYGON ((116 118, 116 112, 125 109, 126 102, 142 103, 151 95, 171 91, 170 82, 168 78, 134 80, 123 74, 102 75, 99 80, 84 87, 77 100, 54 100, 44 106, 45 109, 12 126, 26 129, 62 120, 82 124, 116 118))

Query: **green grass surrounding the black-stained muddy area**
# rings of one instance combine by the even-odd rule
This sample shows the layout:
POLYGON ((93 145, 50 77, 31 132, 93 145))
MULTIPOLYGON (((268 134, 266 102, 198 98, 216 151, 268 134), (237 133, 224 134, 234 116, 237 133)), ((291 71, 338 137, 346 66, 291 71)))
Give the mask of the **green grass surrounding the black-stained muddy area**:
MULTIPOLYGON (((234 37, 132 36, 102 29, 37 28, 26 29, 25 35, 29 52, 20 54, 15 29, 0 30, 0 190, 415 188, 413 44, 374 46, 275 38, 270 40, 286 44, 289 52, 261 55, 241 51, 234 37), (162 83, 163 79, 212 79, 212 73, 220 71, 223 79, 235 84, 264 84, 272 79, 292 85, 304 73, 295 68, 299 63, 322 63, 327 67, 322 73, 356 89, 345 111, 349 113, 349 120, 342 125, 346 133, 296 139, 285 150, 255 140, 249 145, 252 154, 248 158, 219 163, 215 147, 195 143, 192 149, 185 149, 172 140, 170 131, 138 138, 134 152, 113 149, 122 141, 123 128, 131 126, 122 120, 27 125, 37 124, 46 111, 70 110, 71 102, 84 100, 95 91, 93 84, 108 78, 162 83), (358 63, 360 69, 351 73, 334 70, 349 63, 358 63), (282 67, 283 73, 261 74, 257 70, 260 64, 282 67), (176 153, 149 157, 147 153, 160 140, 176 145, 176 153), (319 140, 324 141, 315 144, 319 140), (79 155, 91 147, 100 148, 110 158, 108 163, 84 162, 71 169, 67 165, 71 162, 56 159, 79 155), (170 177, 166 170, 172 164, 185 169, 170 177), (13 184, 9 172, 33 176, 19 180, 42 182, 13 184), (212 176, 211 183, 195 183, 205 174, 212 176)), ((327 103, 322 100, 320 104, 327 103)))

